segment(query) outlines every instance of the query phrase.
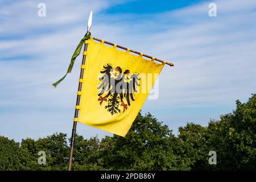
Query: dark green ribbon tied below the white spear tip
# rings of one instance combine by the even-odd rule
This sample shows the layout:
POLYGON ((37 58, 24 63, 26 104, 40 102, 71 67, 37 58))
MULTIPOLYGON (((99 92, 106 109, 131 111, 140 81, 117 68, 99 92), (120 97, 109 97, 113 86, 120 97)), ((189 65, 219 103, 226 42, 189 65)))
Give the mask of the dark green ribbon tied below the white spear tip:
POLYGON ((73 53, 73 56, 72 56, 71 61, 70 61, 70 64, 68 66, 67 73, 64 75, 64 77, 60 78, 60 80, 58 80, 54 84, 52 84, 54 87, 56 87, 61 81, 63 81, 68 73, 71 73, 73 65, 74 65, 75 60, 76 60, 76 57, 80 55, 80 52, 81 52, 81 49, 82 49, 82 45, 84 44, 85 40, 89 40, 89 39, 90 39, 90 32, 87 32, 84 35, 84 38, 81 39, 79 45, 77 46, 75 52, 73 53))

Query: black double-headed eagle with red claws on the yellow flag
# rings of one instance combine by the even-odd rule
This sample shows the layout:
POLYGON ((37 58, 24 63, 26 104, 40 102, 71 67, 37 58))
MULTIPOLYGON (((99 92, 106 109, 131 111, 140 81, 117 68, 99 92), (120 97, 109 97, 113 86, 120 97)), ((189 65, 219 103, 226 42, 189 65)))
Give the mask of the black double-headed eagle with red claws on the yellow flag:
POLYGON ((123 112, 125 112, 127 105, 130 106, 131 101, 135 100, 134 94, 138 92, 140 80, 138 73, 130 74, 129 69, 122 72, 122 68, 115 67, 113 69, 111 64, 106 64, 101 71, 99 80, 98 101, 100 101, 100 105, 107 101, 108 105, 105 106, 105 109, 113 115, 121 112, 118 108, 121 102, 123 112), (103 96, 104 94, 105 96, 103 96))

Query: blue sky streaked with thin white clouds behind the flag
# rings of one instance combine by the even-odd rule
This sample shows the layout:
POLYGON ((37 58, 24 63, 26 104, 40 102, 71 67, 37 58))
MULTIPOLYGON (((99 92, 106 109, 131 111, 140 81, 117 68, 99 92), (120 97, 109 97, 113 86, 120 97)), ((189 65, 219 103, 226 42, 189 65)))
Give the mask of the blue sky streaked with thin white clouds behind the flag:
MULTIPOLYGON (((255 93, 255 1, 156 2, 1 1, 0 135, 71 135, 81 56, 56 89, 51 84, 67 70, 90 10, 93 36, 175 64, 160 75, 158 100, 142 107, 174 134, 187 122, 207 126, 255 93), (217 17, 208 15, 210 2, 217 17)), ((81 123, 77 133, 112 135, 81 123)))

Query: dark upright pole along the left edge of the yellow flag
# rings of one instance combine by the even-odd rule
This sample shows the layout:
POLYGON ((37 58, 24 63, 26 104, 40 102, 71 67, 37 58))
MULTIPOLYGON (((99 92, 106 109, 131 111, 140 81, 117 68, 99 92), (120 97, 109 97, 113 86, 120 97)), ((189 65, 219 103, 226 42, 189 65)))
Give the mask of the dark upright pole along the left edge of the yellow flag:
MULTIPOLYGON (((84 51, 87 51, 88 49, 88 44, 84 44, 84 51)), ((82 65, 85 64, 86 60, 86 55, 82 56, 82 65)), ((81 68, 80 71, 80 79, 84 78, 84 68, 81 68)), ((79 88, 78 91, 82 91, 82 82, 79 82, 79 88)), ((76 105, 80 105, 80 95, 77 95, 76 98, 76 105)), ((75 109, 75 118, 78 118, 79 115, 79 109, 75 109)), ((68 171, 71 171, 72 168, 72 161, 73 161, 73 151, 74 151, 74 146, 75 146, 75 136, 76 136, 76 124, 77 122, 73 122, 73 129, 72 129, 72 135, 71 135, 71 143, 70 143, 70 151, 69 151, 69 158, 68 158, 68 171)))

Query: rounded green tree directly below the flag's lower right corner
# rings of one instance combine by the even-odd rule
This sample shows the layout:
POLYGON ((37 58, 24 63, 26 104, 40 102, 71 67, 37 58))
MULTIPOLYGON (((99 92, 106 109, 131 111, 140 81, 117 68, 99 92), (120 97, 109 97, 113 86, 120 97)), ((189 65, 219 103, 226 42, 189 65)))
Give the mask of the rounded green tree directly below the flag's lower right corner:
POLYGON ((151 114, 138 114, 126 137, 105 137, 101 142, 101 164, 108 169, 179 170, 186 162, 174 154, 176 138, 167 125, 151 114))

